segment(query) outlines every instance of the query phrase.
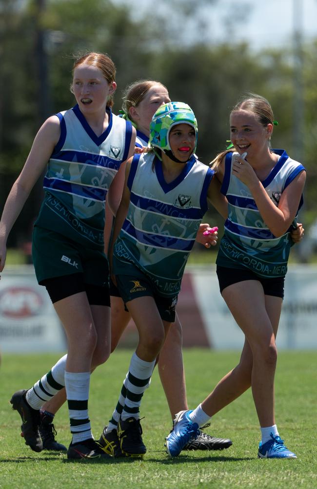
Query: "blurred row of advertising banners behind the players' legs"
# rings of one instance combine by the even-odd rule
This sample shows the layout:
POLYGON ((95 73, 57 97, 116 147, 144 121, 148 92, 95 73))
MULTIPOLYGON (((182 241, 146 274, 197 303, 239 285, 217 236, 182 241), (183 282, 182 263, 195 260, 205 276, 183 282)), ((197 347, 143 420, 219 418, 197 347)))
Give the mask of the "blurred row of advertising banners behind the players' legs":
MULTIPOLYGON (((240 350, 243 334, 224 303, 214 266, 189 266, 179 294, 183 346, 240 350)), ((317 266, 291 265, 277 336, 279 349, 317 349, 317 266)), ((134 348, 131 321, 119 343, 134 348)), ((32 265, 8 267, 0 281, 0 349, 7 353, 58 352, 66 349, 62 327, 32 265)))

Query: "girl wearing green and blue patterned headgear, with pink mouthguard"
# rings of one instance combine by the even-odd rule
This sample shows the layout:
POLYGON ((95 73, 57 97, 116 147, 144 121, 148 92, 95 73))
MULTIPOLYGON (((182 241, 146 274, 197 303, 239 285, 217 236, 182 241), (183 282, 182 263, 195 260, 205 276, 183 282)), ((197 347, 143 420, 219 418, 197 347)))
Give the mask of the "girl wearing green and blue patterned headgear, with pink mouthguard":
MULTIPOLYGON (((187 104, 161 106, 150 125, 153 151, 128 161, 116 216, 112 272, 139 332, 119 398, 120 450, 130 456, 146 452, 139 423, 141 398, 175 320, 184 267, 212 196, 214 172, 194 156, 197 138, 197 121, 187 104)), ((217 208, 221 202, 225 205, 220 194, 215 195, 217 208)))

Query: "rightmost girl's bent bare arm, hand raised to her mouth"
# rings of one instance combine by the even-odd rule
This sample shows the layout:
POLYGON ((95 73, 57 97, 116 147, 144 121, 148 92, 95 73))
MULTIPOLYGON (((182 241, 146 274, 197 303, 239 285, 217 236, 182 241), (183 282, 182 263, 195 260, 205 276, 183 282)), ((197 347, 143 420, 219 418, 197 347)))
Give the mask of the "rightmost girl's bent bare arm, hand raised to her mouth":
POLYGON ((237 156, 233 163, 233 173, 247 185, 257 204, 263 221, 277 238, 286 233, 294 220, 300 197, 306 180, 306 172, 302 171, 282 192, 276 206, 267 195, 252 166, 237 156))

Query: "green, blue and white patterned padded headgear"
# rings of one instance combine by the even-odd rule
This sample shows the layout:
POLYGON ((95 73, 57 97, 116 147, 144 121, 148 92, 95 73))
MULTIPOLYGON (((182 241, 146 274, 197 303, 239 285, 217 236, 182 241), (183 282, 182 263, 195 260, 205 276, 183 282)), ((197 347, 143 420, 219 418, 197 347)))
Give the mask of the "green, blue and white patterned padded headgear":
POLYGON ((151 146, 159 148, 164 153, 171 151, 169 134, 171 128, 177 124, 189 124, 195 129, 196 145, 192 153, 194 154, 198 141, 197 120, 189 105, 183 102, 169 102, 155 112, 150 124, 151 146))

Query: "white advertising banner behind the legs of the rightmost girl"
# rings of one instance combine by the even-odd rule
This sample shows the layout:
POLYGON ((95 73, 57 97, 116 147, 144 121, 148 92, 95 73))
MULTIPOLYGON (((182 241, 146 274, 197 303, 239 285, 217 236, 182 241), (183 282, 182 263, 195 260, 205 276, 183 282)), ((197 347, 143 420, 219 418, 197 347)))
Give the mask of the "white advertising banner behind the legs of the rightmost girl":
MULTIPOLYGON (((211 347, 241 349, 244 335, 222 299, 216 269, 190 267, 198 308, 211 347)), ((290 265, 277 333, 279 349, 317 349, 317 267, 290 265)))

